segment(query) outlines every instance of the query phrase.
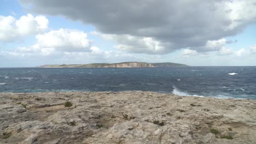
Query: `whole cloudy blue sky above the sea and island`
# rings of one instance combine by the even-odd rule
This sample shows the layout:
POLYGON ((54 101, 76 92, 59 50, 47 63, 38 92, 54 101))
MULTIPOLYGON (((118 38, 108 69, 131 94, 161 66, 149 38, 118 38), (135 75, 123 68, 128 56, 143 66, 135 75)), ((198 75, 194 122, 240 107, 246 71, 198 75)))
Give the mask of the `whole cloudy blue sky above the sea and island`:
POLYGON ((0 0, 0 67, 256 65, 256 0, 0 0))

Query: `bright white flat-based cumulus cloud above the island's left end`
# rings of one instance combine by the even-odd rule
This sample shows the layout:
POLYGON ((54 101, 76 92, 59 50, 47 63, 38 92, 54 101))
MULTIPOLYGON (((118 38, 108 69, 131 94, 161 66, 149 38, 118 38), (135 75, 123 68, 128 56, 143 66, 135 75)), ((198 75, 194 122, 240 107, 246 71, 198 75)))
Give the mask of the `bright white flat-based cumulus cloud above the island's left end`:
POLYGON ((91 47, 87 34, 75 29, 59 29, 36 35, 37 43, 28 47, 18 47, 12 51, 2 51, 9 56, 57 56, 64 52, 98 52, 91 47))

